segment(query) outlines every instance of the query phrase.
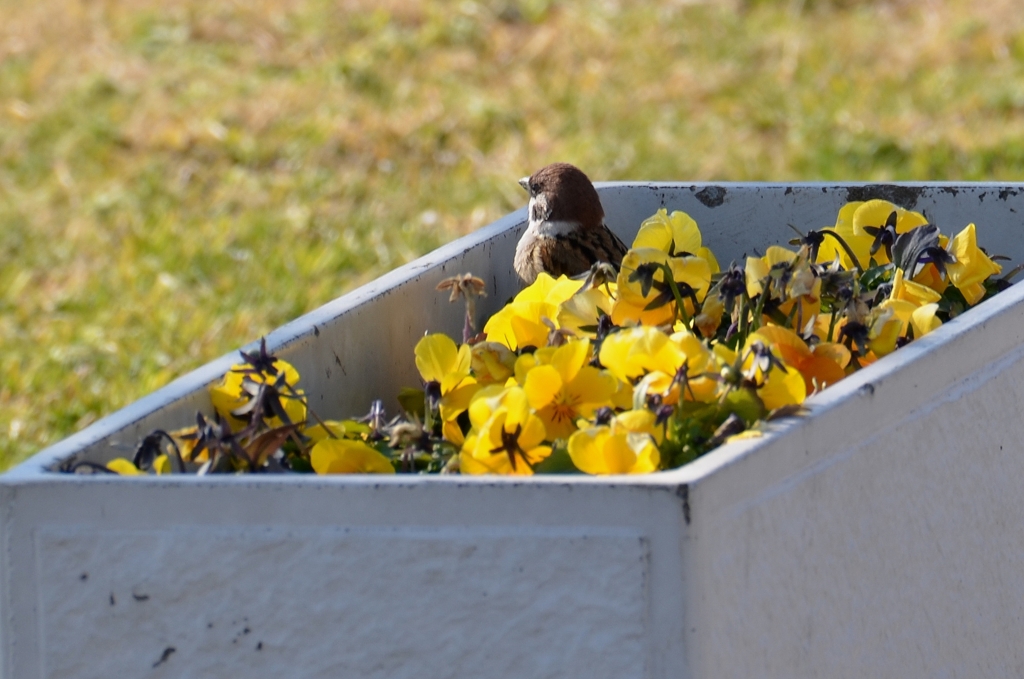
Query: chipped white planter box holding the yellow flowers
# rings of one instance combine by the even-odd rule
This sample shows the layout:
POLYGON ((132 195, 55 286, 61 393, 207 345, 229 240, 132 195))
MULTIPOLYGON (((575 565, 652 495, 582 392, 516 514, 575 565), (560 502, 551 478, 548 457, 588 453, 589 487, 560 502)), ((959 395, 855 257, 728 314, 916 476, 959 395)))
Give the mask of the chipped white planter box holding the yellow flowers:
MULTIPOLYGON (((723 263, 847 200, 978 224, 1024 261, 1018 185, 603 184, 629 238, 689 212, 723 263)), ((434 292, 515 291, 516 212, 268 337, 326 416, 416 384, 434 292)), ((0 668, 22 677, 1019 676, 1024 287, 639 478, 71 476, 210 412, 187 375, 0 477, 0 668)), ((237 354, 236 354, 237 355, 237 354)))

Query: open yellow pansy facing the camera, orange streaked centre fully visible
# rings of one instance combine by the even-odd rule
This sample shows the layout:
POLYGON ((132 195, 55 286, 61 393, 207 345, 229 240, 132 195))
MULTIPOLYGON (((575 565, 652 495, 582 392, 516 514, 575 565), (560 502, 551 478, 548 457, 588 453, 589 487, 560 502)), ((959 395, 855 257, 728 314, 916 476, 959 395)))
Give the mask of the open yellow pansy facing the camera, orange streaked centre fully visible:
POLYGON ((567 342, 550 354, 550 362, 526 373, 522 388, 544 422, 549 440, 575 431, 580 417, 611 405, 617 383, 608 373, 588 366, 590 341, 567 342))

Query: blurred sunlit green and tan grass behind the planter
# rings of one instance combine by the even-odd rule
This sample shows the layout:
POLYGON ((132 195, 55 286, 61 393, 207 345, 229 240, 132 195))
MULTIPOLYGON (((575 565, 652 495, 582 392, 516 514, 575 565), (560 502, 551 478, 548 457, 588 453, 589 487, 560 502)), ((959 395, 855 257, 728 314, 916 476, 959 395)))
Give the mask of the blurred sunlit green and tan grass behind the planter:
POLYGON ((1018 180, 1009 0, 0 0, 0 468, 595 180, 1018 180))

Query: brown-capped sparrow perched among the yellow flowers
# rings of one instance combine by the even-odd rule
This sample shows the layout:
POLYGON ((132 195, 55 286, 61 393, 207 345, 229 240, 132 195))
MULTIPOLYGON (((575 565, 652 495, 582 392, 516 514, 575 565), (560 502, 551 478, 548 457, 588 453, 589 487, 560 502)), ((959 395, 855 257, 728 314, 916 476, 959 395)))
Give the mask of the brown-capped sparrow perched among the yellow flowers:
POLYGON ((596 262, 620 265, 626 245, 604 225, 601 199, 579 168, 554 163, 519 184, 529 193, 529 224, 513 265, 525 285, 541 271, 572 277, 596 262))

